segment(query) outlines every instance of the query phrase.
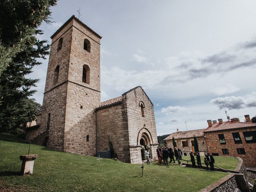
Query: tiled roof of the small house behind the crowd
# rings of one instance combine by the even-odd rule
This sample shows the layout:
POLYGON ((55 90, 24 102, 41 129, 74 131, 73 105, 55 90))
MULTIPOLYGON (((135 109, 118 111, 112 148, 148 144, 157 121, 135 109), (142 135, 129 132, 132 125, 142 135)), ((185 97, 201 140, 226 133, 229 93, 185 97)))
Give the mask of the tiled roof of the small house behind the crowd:
POLYGON ((206 129, 197 129, 197 130, 190 130, 190 131, 174 132, 170 134, 168 137, 166 137, 164 140, 172 140, 172 137, 174 137, 174 139, 193 138, 194 136, 203 137, 205 130, 206 129))

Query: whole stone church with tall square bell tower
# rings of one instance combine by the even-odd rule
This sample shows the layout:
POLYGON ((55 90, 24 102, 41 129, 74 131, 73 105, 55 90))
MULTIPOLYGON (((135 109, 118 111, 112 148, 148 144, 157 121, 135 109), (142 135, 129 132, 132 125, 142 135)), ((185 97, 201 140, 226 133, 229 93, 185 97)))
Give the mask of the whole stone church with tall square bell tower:
POLYGON ((42 113, 26 140, 96 156, 111 140, 118 159, 142 162, 141 145, 158 146, 153 104, 138 86, 100 102, 100 39, 72 16, 52 36, 42 113))

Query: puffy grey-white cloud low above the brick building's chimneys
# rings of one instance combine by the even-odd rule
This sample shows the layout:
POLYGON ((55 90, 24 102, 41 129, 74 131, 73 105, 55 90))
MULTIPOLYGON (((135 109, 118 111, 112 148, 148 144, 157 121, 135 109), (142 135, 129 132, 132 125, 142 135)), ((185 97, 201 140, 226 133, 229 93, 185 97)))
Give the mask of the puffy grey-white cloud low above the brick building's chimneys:
POLYGON ((246 107, 256 107, 256 92, 246 96, 218 97, 212 99, 210 103, 216 104, 220 109, 223 105, 228 109, 242 109, 246 107))

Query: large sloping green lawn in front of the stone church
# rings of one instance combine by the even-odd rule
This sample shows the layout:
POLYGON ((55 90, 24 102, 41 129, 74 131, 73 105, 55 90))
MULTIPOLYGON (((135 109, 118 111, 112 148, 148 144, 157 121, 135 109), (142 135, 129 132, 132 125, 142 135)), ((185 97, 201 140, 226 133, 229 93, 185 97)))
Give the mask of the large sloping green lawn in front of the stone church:
MULTIPOLYGON (((171 164, 127 164, 110 159, 57 152, 31 145, 30 154, 38 154, 34 173, 20 176, 20 155, 28 153, 28 144, 16 142, 12 136, 0 134, 0 191, 36 192, 197 192, 227 175, 224 172, 186 168, 171 164)), ((230 159, 229 159, 230 160, 230 159)))

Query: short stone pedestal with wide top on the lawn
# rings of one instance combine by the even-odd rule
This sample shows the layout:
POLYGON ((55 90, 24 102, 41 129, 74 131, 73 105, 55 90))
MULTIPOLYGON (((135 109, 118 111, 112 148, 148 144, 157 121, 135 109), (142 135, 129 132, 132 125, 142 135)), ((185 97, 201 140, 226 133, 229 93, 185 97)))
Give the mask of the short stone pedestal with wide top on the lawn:
POLYGON ((37 155, 21 155, 20 160, 22 160, 21 165, 21 174, 28 175, 33 173, 34 160, 37 158, 37 155))

